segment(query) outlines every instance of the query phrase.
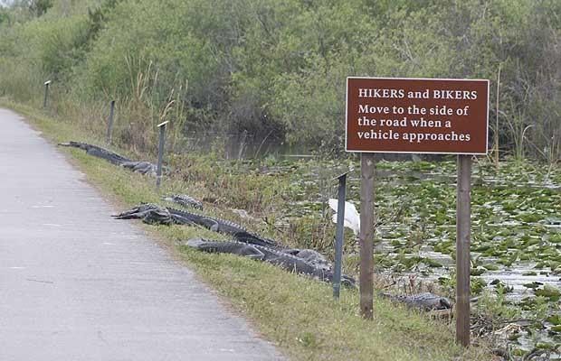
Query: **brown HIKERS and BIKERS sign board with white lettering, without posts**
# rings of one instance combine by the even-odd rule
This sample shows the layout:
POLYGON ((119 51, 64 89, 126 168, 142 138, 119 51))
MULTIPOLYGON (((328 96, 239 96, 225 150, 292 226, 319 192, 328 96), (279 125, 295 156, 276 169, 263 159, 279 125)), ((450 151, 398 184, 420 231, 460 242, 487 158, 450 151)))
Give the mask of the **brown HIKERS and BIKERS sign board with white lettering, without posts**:
POLYGON ((489 80, 347 78, 347 152, 486 154, 489 80))

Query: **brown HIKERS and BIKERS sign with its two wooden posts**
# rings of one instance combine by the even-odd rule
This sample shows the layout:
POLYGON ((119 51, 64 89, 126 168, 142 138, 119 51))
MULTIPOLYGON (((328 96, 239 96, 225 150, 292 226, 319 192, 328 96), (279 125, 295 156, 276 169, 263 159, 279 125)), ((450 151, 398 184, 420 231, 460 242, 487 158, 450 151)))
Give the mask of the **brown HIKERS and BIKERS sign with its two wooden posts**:
POLYGON ((487 153, 489 80, 347 78, 346 150, 361 153, 360 309, 372 318, 372 153, 458 154, 456 341, 470 345, 471 155, 487 153))

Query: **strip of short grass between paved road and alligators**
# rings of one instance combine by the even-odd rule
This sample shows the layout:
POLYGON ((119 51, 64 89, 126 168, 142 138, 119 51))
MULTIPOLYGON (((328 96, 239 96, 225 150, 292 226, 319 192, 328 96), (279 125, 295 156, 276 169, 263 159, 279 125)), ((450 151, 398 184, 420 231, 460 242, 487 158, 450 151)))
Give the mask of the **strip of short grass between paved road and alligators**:
MULTIPOLYGON (((101 143, 100 139, 72 126, 44 116, 33 108, 0 101, 13 108, 43 135, 59 143, 71 139, 101 143)), ((64 148, 88 180, 119 207, 140 201, 158 201, 154 179, 120 170, 80 150, 64 148)), ((198 185, 197 185, 198 186, 198 185)), ((162 192, 195 190, 194 184, 166 181, 162 192)), ((223 210, 205 209, 221 214, 223 210)), ((109 215, 108 215, 109 217, 109 215)), ((344 290, 333 301, 328 284, 286 273, 233 255, 207 255, 181 245, 193 236, 220 237, 196 227, 147 227, 172 252, 185 261, 205 282, 211 284, 233 306, 252 321, 264 338, 276 344, 293 360, 489 360, 485 347, 463 350, 454 344, 451 324, 395 307, 375 298, 374 319, 358 314, 357 291, 344 290)))

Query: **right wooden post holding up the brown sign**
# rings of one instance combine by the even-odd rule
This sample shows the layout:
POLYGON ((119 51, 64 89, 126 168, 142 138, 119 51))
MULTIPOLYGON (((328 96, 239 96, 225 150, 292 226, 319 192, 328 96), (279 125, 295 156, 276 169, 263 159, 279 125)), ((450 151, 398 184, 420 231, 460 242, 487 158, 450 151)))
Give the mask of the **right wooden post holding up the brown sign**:
POLYGON ((456 199, 456 342, 470 346, 471 155, 458 155, 456 199))

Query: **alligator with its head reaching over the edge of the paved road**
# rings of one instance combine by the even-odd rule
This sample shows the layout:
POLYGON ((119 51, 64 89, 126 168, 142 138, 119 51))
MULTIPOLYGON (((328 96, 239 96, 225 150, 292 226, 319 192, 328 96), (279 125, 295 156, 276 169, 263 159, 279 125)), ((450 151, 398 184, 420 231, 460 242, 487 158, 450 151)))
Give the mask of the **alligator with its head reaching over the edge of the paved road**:
MULTIPOLYGON (((173 223, 178 225, 203 226, 214 232, 219 232, 219 233, 233 236, 236 240, 240 242, 251 243, 252 245, 267 245, 269 247, 278 246, 277 243, 272 239, 255 235, 249 232, 244 227, 230 220, 208 217, 208 216, 192 213, 186 210, 179 210, 176 208, 166 207, 164 209, 166 209, 169 212, 173 223)), ((159 207, 155 204, 147 203, 147 204, 141 204, 135 208, 122 212, 119 215, 115 215, 113 217, 118 219, 130 219, 130 218, 147 219, 148 218, 150 220, 155 220, 157 219, 157 217, 149 216, 150 212, 161 213, 161 211, 162 211, 162 207, 159 207)), ((169 223, 164 223, 164 224, 169 224, 169 223)))

